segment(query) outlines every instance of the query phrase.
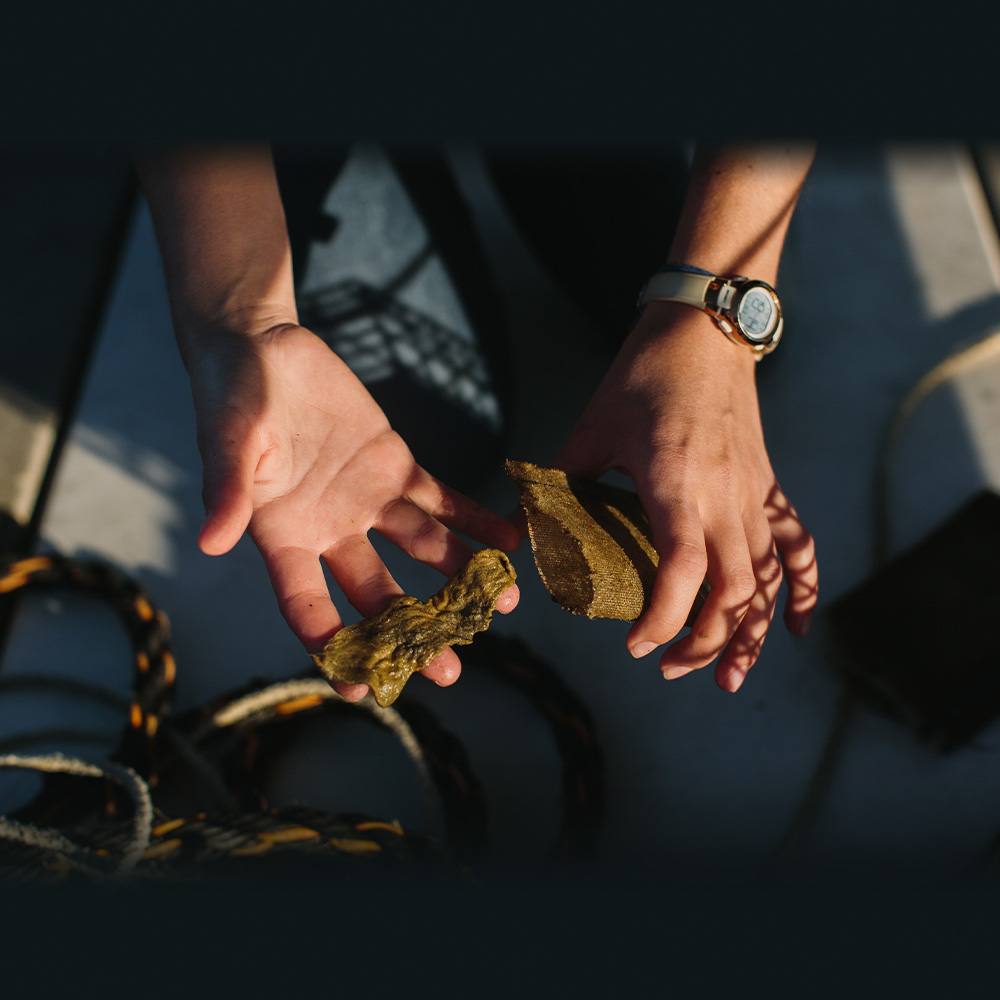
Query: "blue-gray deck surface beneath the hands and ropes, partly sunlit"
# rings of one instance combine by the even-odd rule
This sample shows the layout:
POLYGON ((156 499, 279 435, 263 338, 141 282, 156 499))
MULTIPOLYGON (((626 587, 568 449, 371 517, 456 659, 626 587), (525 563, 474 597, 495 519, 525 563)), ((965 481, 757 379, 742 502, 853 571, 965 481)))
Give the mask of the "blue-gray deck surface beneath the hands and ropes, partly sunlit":
MULTIPOLYGON (((521 604, 494 627, 521 636, 553 662, 594 714, 609 787, 601 863, 611 870, 746 875, 772 857, 834 717, 839 685, 822 610, 873 569, 873 484, 893 412, 934 364, 1000 324, 988 260, 977 264, 981 280, 964 291, 952 288, 952 298, 935 300, 933 308, 926 304, 921 241, 933 242, 940 222, 914 223, 912 200, 897 196, 896 155, 867 146, 822 148, 793 221, 779 283, 788 333, 759 369, 773 465, 817 541, 822 589, 813 634, 793 639, 776 624, 736 696, 719 691, 709 671, 668 683, 654 664, 628 656, 626 625, 568 615, 544 592, 527 546, 515 560, 521 604)), ((518 367, 512 456, 543 462, 585 403, 602 360, 581 335, 586 319, 525 250, 476 158, 456 154, 456 163, 498 268, 515 361, 529 351, 540 359, 518 367)), ((923 175, 917 170, 909 183, 932 201, 958 198, 959 208, 948 214, 962 229, 954 242, 974 254, 968 227, 982 219, 963 214, 954 188, 959 180, 935 163, 923 175)), ((981 253, 988 257, 988 250, 981 253)), ((929 398, 902 441, 895 472, 902 499, 893 507, 896 551, 988 481, 988 463, 969 430, 968 401, 963 409, 956 400, 947 387, 929 398)), ((149 588, 173 625, 178 708, 249 677, 281 677, 307 665, 277 612, 252 544, 244 540, 219 559, 197 551, 199 490, 190 394, 143 208, 43 539, 67 554, 109 558, 149 588)), ((515 502, 501 476, 479 499, 502 511, 515 502)), ((391 553, 387 558, 408 592, 436 589, 435 574, 391 553)), ((124 640, 110 618, 100 619, 82 603, 27 601, 4 672, 61 663, 60 669, 78 676, 127 685, 124 640), (63 657, 60 637, 67 632, 86 640, 72 662, 63 657)), ((417 679, 411 690, 468 747, 489 798, 498 860, 540 857, 558 820, 558 760, 529 707, 470 672, 452 689, 417 679)), ((8 699, 0 703, 0 731, 28 719, 50 724, 57 711, 68 709, 35 705, 29 715, 8 699)), ((115 720, 95 716, 91 724, 105 725, 113 744, 115 720)), ((419 792, 394 747, 369 746, 361 736, 331 740, 283 765, 276 794, 420 825, 419 792)), ((993 727, 980 744, 989 748, 998 741, 1000 728, 993 727)), ((990 752, 970 748, 941 756, 895 723, 861 710, 815 822, 777 870, 961 876, 1000 830, 1000 809, 990 795, 993 769, 990 752)), ((0 791, 16 799, 29 785, 27 778, 7 778, 0 791)))

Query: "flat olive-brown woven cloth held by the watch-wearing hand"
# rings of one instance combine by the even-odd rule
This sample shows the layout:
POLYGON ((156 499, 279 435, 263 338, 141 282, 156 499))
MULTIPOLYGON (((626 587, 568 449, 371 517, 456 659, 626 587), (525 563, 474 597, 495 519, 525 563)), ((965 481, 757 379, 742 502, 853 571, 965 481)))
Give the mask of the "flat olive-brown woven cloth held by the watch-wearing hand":
MULTIPOLYGON (((530 462, 508 460, 506 469, 520 492, 535 565, 552 598, 588 618, 638 618, 659 564, 638 496, 530 462)), ((707 592, 706 583, 689 625, 707 592)))

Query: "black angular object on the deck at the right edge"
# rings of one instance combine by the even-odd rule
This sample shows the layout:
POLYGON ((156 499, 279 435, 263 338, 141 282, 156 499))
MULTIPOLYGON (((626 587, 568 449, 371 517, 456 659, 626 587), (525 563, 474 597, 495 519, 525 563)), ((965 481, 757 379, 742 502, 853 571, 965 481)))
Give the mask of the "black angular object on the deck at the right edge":
POLYGON ((830 610, 837 668, 942 751, 1000 713, 1000 496, 977 494, 830 610))

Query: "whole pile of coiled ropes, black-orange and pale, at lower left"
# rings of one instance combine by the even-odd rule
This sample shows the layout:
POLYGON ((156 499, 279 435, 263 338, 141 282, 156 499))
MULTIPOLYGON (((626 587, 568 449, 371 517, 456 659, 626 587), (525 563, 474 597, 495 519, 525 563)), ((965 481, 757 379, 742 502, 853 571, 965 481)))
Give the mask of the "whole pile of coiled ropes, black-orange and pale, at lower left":
MULTIPOLYGON (((362 859, 365 870, 373 870, 373 865, 395 871, 400 865, 446 862, 454 874, 485 858, 488 823, 482 786, 462 743, 416 700, 400 698, 391 709, 379 708, 371 699, 348 704, 324 679, 298 677, 254 682, 210 706, 168 717, 176 674, 169 622, 135 581, 106 563, 82 563, 57 554, 0 560, 0 595, 26 587, 70 588, 107 601, 132 638, 133 683, 130 696, 123 699, 58 676, 0 681, 0 693, 44 689, 114 708, 127 719, 111 760, 58 753, 0 756, 0 767, 48 776, 29 806, 16 817, 0 817, 0 872, 8 880, 73 873, 89 880, 184 879, 207 869, 243 871, 248 858, 287 860, 296 855, 362 859), (428 834, 404 830, 395 820, 330 815, 301 806, 274 809, 262 801, 261 768, 276 757, 268 751, 279 749, 282 739, 287 742, 297 721, 329 711, 360 713, 395 736, 419 774, 428 827, 437 822, 438 802, 444 807, 444 845, 428 834), (236 752, 232 739, 228 750, 224 745, 227 733, 237 737, 236 752), (220 753, 219 760, 213 759, 220 753), (207 793, 209 809, 200 804, 190 814, 171 816, 171 810, 157 806, 171 796, 176 799, 178 792, 192 792, 192 775, 201 793, 207 793), (132 816, 127 822, 116 818, 112 799, 102 805, 78 784, 66 783, 101 777, 128 793, 132 816)), ((556 853, 591 848, 604 794, 600 748, 586 710, 523 643, 484 635, 467 657, 522 690, 548 720, 564 758, 564 817, 556 853)), ((0 750, 43 737, 110 742, 107 734, 62 729, 8 737, 0 750)))

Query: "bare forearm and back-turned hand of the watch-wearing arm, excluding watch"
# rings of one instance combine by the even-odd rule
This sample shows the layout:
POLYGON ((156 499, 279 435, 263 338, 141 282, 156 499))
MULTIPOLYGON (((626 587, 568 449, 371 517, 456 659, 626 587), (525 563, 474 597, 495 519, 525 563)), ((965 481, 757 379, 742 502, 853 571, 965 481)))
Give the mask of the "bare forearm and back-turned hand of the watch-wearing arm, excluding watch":
MULTIPOLYGON (((774 284, 812 157, 803 146, 699 151, 670 259, 774 284)), ((729 691, 760 653, 783 571, 796 634, 817 591, 812 538, 764 446, 754 369, 751 352, 704 313, 651 302, 555 460, 593 477, 626 472, 650 515, 660 565, 627 638, 632 655, 679 634, 707 575, 704 609, 660 667, 669 679, 718 659, 716 681, 729 691)))

